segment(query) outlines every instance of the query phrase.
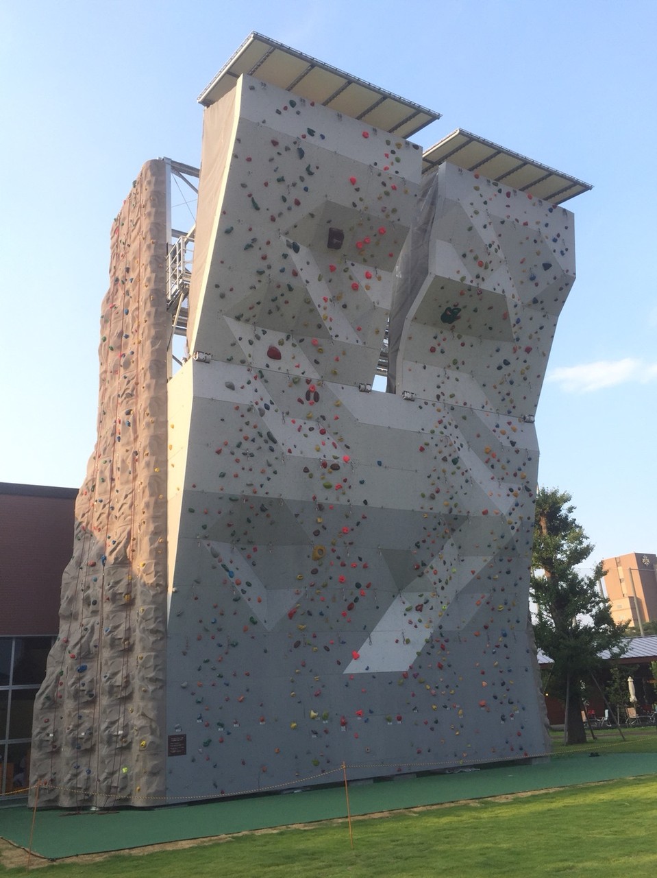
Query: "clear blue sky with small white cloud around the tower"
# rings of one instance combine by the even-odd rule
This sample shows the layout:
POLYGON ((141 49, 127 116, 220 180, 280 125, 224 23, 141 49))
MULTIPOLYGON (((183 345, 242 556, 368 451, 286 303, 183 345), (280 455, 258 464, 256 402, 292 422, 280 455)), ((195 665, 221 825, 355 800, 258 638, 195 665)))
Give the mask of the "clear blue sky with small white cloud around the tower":
POLYGON ((147 159, 197 164, 196 97, 253 30, 443 113, 425 148, 463 127, 594 184, 566 205, 539 481, 592 560, 656 551, 653 0, 4 0, 0 480, 82 484, 111 220, 147 159))

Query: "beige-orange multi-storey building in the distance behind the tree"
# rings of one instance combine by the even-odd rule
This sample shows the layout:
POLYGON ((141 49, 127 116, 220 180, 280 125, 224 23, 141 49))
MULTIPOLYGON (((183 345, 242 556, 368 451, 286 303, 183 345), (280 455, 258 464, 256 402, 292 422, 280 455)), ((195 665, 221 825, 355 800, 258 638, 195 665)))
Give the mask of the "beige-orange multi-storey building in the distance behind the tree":
POLYGON ((603 561, 604 585, 617 623, 634 628, 657 619, 657 555, 630 552, 603 561))

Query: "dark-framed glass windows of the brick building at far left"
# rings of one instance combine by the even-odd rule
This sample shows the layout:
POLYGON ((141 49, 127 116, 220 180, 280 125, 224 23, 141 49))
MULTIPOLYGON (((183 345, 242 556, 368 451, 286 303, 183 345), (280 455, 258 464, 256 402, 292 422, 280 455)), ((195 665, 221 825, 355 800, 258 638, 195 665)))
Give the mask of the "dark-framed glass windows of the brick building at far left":
POLYGON ((54 637, 0 637, 0 796, 29 782, 34 699, 54 637))

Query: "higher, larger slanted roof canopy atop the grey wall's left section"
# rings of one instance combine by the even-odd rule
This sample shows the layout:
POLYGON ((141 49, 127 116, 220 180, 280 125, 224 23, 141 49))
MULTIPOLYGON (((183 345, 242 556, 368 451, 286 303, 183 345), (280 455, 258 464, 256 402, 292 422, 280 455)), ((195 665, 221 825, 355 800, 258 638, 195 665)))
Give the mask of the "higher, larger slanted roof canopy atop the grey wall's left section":
POLYGON ((201 92, 199 104, 214 104, 244 73, 403 138, 412 137, 440 118, 439 112, 427 110, 255 31, 201 92))

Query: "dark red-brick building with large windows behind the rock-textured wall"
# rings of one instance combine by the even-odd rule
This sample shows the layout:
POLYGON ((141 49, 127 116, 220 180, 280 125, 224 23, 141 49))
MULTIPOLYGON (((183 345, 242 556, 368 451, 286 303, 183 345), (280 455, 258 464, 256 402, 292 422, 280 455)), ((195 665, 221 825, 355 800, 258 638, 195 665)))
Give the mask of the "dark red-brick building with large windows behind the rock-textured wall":
POLYGON ((0 798, 25 786, 34 697, 59 628, 74 488, 0 482, 0 798))

